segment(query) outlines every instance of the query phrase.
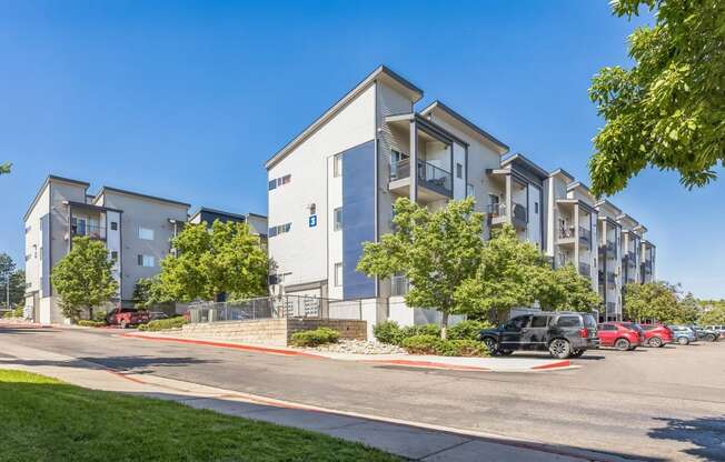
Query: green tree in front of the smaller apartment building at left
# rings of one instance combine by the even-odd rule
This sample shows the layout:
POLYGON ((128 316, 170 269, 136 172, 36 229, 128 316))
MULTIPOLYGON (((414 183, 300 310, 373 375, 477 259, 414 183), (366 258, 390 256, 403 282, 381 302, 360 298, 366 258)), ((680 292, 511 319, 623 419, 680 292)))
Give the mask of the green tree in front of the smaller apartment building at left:
POLYGON ((53 267, 50 275, 66 318, 78 320, 83 309, 92 315, 93 307, 117 297, 118 282, 113 279, 112 267, 101 242, 86 237, 73 238, 70 252, 53 267))

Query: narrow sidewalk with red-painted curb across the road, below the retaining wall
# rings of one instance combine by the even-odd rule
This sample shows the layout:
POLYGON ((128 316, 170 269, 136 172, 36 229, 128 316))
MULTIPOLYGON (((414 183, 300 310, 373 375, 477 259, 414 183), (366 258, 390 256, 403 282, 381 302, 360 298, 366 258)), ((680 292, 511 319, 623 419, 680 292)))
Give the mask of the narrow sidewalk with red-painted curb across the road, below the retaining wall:
POLYGON ((436 355, 416 354, 356 354, 334 353, 315 351, 311 349, 295 349, 289 346, 267 346, 248 344, 230 340, 217 340, 213 338, 176 337, 172 333, 162 332, 132 332, 123 337, 148 340, 189 343, 197 345, 228 348, 235 350, 255 351, 259 353, 297 355, 307 358, 328 359, 336 361, 357 361, 380 365, 400 365, 408 368, 445 369, 454 371, 470 372, 542 372, 563 369, 577 369, 568 360, 532 359, 532 358, 453 358, 436 355))

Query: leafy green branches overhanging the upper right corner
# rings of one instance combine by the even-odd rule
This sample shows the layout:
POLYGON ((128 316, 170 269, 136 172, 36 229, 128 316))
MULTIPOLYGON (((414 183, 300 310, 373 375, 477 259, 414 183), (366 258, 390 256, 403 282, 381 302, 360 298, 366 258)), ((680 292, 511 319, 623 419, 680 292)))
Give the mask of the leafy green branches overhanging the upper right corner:
POLYGON ((656 10, 629 36, 634 67, 604 68, 589 97, 606 124, 594 138, 592 191, 613 194, 646 167, 676 170, 687 188, 725 161, 725 2, 614 0, 617 17, 656 10))

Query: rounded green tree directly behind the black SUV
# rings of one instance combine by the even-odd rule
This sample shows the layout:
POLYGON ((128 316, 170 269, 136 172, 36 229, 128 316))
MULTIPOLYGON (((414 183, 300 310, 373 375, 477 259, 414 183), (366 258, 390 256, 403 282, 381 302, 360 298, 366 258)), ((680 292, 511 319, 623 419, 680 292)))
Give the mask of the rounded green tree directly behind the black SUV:
POLYGON ((532 307, 550 270, 529 242, 518 239, 510 225, 493 230, 484 243, 474 278, 461 282, 456 303, 476 319, 499 322, 512 308, 532 307))

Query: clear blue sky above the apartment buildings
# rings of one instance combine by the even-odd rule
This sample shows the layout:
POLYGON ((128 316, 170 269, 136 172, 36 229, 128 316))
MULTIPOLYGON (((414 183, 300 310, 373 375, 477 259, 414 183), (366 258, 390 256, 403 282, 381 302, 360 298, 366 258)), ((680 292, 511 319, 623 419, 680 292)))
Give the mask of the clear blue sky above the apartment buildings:
MULTIPOLYGON (((626 63, 606 1, 14 1, 0 4, 0 251, 48 173, 266 212, 264 161, 386 63, 546 169, 588 181, 590 77, 626 63)), ((725 180, 649 171, 613 201, 658 277, 725 297, 725 180)))

